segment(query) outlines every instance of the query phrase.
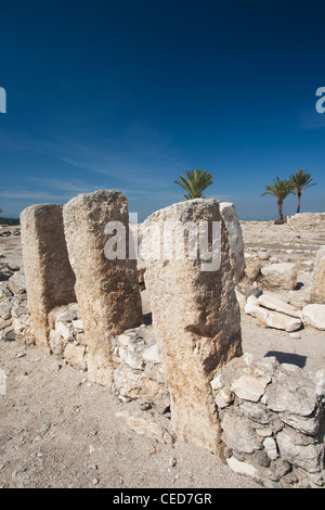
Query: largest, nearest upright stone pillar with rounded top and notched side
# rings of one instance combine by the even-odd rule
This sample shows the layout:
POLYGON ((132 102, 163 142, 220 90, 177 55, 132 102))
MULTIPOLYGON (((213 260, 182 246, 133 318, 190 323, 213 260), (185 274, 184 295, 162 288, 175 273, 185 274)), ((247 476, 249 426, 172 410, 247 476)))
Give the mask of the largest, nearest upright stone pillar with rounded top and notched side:
MULTIPOLYGON (((221 452, 220 425, 210 381, 221 365, 242 355, 240 311, 235 296, 227 229, 219 202, 203 199, 158 211, 147 218, 145 226, 154 235, 157 235, 155 226, 162 232, 161 256, 157 245, 152 246, 150 255, 153 234, 146 234, 144 278, 171 396, 172 426, 179 438, 218 454, 221 452), (193 225, 198 227, 200 222, 208 224, 210 229, 212 222, 220 227, 220 242, 213 246, 214 256, 221 248, 220 267, 218 264, 209 267, 202 260, 200 253, 194 259, 193 239, 186 234, 185 253, 191 241, 191 257, 165 257, 165 253, 173 252, 170 226, 176 225, 179 240, 179 226, 184 227, 186 222, 192 230, 193 225)), ((210 237, 210 248, 211 245, 210 237)), ((216 259, 218 262, 217 256, 216 259)))

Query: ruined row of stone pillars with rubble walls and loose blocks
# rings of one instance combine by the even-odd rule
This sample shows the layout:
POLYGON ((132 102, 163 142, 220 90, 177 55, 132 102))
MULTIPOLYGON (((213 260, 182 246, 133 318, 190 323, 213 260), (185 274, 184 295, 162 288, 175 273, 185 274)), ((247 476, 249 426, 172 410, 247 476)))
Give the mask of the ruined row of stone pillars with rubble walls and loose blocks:
POLYGON ((28 308, 10 296, 4 334, 11 317, 16 340, 28 337, 120 400, 157 411, 157 420, 121 415, 138 433, 206 448, 265 487, 325 485, 325 371, 243 353, 240 331, 240 309, 290 333, 312 320, 317 310, 308 307, 325 306, 324 250, 313 297, 297 313, 266 295, 246 299, 236 288, 258 277, 291 289, 296 273, 278 263, 245 268, 230 203, 172 204, 139 227, 135 243, 119 191, 34 205, 21 224, 28 308))

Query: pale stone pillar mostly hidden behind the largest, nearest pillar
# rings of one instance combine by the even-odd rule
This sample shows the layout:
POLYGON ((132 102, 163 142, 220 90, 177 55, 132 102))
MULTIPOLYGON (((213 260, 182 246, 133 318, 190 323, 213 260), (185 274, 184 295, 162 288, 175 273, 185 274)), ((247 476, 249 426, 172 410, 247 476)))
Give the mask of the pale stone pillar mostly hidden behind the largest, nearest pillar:
POLYGON ((220 213, 225 222, 230 239, 230 258, 234 270, 234 281, 237 283, 244 277, 245 257, 242 227, 234 204, 220 203, 220 213))

